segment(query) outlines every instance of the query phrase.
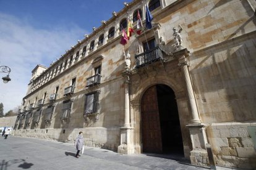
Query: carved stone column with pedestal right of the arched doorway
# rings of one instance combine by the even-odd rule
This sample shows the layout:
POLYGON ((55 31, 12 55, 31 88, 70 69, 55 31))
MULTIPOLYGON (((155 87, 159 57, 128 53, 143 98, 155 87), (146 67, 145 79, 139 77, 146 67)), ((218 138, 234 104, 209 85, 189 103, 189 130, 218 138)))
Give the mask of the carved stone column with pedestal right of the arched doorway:
POLYGON ((190 139, 192 142, 193 150, 190 152, 190 161, 191 164, 195 164, 198 166, 207 166, 209 163, 206 144, 207 144, 207 136, 205 133, 206 125, 202 123, 202 120, 199 118, 197 103, 195 101, 194 89, 192 87, 192 81, 190 79, 189 73, 189 64, 187 61, 187 57, 189 57, 189 51, 187 49, 179 49, 178 51, 173 53, 174 56, 179 60, 179 67, 182 69, 182 73, 184 75, 187 87, 187 94, 189 97, 189 107, 191 111, 190 123, 187 124, 190 132, 190 139))

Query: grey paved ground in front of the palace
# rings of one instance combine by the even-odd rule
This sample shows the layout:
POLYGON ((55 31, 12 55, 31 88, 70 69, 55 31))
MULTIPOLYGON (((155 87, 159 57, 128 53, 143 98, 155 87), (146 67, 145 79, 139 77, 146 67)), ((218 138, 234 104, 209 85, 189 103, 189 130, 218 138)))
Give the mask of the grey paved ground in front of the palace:
POLYGON ((75 152, 72 144, 14 136, 5 140, 0 137, 0 169, 206 169, 192 166, 187 160, 174 155, 121 155, 85 147, 83 155, 75 158, 75 152))

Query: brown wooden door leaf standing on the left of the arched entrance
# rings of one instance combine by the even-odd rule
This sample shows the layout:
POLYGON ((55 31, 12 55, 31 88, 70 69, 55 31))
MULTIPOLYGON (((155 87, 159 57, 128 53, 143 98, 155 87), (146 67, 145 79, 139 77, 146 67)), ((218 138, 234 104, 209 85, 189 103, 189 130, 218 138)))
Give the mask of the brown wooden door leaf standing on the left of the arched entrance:
POLYGON ((161 129, 156 86, 150 87, 142 97, 142 144, 143 152, 161 153, 161 129))

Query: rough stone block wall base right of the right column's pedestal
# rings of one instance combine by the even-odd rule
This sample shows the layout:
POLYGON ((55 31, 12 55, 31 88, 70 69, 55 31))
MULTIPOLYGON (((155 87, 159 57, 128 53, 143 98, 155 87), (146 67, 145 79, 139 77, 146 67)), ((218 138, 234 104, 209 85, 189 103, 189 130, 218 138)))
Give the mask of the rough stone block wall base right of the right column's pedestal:
POLYGON ((256 123, 212 123, 207 127, 208 142, 213 148, 216 164, 238 167, 256 167, 256 145, 248 127, 256 123))

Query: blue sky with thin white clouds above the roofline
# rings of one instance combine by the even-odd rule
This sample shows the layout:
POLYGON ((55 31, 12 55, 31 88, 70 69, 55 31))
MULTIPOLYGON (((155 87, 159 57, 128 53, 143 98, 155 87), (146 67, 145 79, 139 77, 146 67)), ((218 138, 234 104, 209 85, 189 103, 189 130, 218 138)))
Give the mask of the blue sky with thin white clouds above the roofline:
MULTIPOLYGON (((131 2, 127 0, 126 2, 131 2)), ((11 68, 11 81, 0 82, 4 113, 27 92, 31 71, 49 66, 66 49, 90 34, 93 26, 124 7, 122 0, 0 0, 0 65, 11 68)), ((0 73, 0 76, 6 76, 0 73)))

